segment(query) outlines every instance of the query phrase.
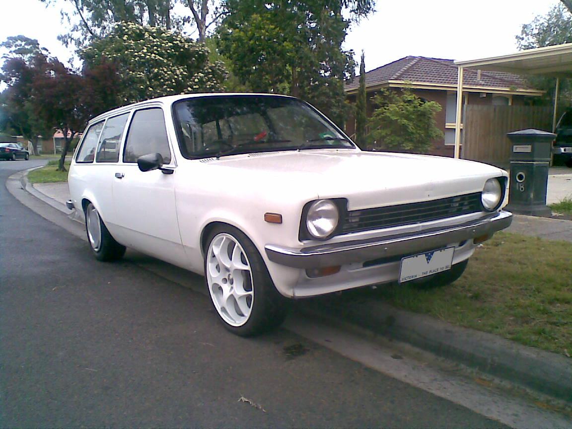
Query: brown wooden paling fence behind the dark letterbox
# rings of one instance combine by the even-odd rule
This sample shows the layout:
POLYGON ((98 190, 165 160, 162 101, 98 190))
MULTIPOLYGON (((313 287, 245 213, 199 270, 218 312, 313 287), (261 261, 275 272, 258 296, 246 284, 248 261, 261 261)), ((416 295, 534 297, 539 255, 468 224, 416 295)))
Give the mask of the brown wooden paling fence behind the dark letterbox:
POLYGON ((526 128, 552 129, 552 109, 541 106, 464 106, 461 157, 506 167, 511 144, 506 133, 526 128))

